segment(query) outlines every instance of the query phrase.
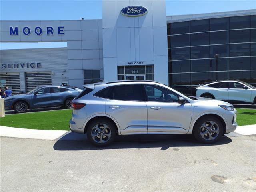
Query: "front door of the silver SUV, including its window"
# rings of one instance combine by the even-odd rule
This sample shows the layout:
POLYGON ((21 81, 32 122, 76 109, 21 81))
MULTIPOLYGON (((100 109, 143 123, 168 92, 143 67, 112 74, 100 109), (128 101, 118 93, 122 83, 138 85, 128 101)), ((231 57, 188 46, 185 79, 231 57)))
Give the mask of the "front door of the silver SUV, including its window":
POLYGON ((148 109, 148 134, 186 134, 192 106, 179 104, 179 95, 162 86, 145 84, 148 109))

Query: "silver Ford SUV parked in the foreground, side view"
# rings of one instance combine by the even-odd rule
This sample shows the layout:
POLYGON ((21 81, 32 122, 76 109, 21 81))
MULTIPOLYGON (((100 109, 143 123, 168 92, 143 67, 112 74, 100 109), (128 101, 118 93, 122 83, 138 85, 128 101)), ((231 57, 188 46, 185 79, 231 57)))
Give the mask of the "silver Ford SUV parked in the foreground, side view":
POLYGON ((153 81, 85 85, 72 101, 70 129, 95 146, 117 135, 193 134, 206 144, 236 129, 236 109, 209 98, 187 97, 153 81))

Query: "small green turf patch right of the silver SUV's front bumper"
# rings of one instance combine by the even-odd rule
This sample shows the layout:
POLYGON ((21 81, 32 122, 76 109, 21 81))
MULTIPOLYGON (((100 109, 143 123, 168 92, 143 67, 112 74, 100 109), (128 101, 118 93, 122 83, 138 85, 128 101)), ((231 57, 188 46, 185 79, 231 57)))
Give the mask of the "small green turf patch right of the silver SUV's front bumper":
POLYGON ((236 108, 236 110, 237 110, 236 122, 238 126, 256 124, 256 109, 236 108))

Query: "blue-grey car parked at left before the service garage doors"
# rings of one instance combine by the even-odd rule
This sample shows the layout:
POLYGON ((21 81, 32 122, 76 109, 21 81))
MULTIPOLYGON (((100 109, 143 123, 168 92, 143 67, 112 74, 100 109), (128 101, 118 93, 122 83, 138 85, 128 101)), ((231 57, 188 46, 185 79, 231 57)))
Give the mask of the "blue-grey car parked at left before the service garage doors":
POLYGON ((54 106, 71 108, 71 101, 81 91, 62 86, 40 86, 26 94, 5 98, 4 107, 6 110, 15 110, 18 113, 24 113, 28 109, 54 106))

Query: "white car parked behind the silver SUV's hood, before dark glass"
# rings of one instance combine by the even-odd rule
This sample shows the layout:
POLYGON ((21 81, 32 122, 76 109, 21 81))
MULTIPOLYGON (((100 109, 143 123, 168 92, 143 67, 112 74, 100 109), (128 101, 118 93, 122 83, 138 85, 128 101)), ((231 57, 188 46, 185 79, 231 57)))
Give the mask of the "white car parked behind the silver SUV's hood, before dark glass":
POLYGON ((196 88, 196 96, 224 100, 234 104, 256 104, 256 88, 238 80, 204 84, 196 88))

